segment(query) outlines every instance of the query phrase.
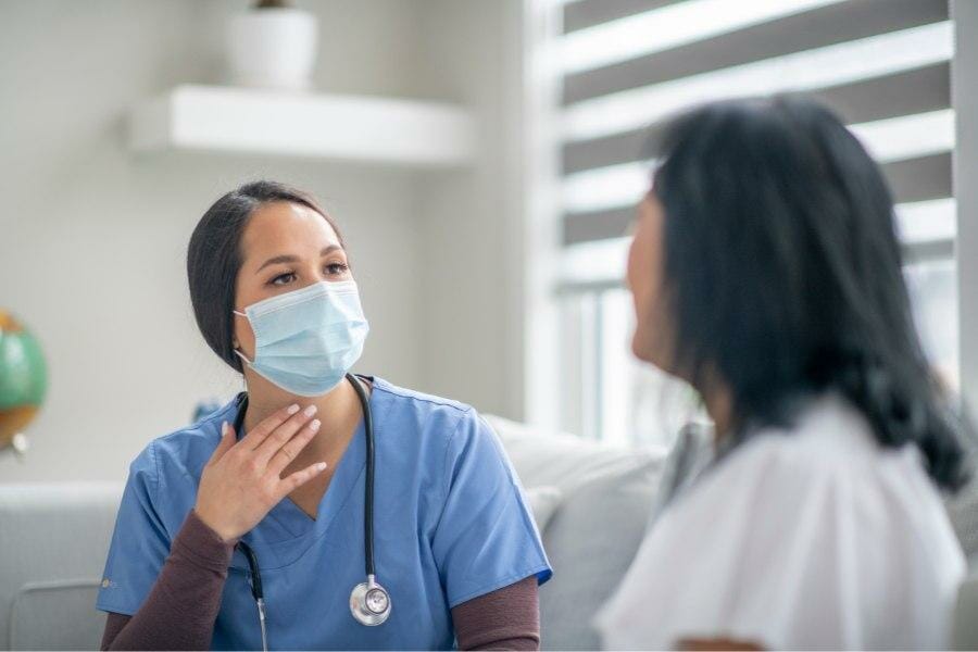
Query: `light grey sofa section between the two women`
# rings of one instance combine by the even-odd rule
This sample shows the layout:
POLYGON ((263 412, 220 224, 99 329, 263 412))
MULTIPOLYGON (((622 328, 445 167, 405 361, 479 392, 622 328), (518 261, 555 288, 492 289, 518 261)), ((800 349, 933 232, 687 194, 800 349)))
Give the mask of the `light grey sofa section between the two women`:
POLYGON ((665 451, 612 449, 496 416, 486 421, 528 491, 553 486, 563 493, 541 530, 554 569, 540 588, 542 647, 595 650, 591 620, 641 543, 665 451))

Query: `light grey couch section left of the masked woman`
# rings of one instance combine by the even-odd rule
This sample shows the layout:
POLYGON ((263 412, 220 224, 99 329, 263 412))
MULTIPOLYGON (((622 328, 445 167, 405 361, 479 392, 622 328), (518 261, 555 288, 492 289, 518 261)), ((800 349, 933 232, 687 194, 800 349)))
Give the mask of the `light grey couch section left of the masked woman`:
POLYGON ((0 485, 0 649, 98 650, 122 484, 0 485))

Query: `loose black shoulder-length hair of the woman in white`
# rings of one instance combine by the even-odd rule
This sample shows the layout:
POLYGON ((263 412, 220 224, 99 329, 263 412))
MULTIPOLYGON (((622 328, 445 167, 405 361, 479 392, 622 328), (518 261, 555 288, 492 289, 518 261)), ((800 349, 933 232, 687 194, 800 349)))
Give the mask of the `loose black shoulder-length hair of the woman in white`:
POLYGON ((842 122, 800 97, 723 101, 653 148, 677 366, 728 387, 732 443, 833 389, 882 446, 916 444, 960 487, 971 428, 921 350, 890 189, 842 122))

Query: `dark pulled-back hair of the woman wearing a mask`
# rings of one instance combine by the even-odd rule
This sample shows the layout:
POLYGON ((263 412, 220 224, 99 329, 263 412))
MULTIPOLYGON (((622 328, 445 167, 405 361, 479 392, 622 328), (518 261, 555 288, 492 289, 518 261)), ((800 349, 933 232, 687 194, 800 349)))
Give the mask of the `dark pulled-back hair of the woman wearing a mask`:
POLYGON ((326 211, 309 193, 277 181, 253 181, 231 190, 203 214, 187 248, 190 302, 201 334, 221 359, 240 372, 234 349, 235 291, 241 268, 241 234, 262 204, 287 201, 323 216, 346 248, 342 234, 326 211))

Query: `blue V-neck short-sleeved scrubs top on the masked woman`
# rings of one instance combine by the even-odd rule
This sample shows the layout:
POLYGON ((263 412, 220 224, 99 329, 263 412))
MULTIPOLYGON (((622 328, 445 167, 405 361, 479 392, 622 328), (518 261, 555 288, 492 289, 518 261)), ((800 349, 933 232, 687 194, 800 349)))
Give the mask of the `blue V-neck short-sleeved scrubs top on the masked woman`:
MULTIPOLYGON (((519 480, 496 434, 472 408, 375 378, 374 538, 390 618, 350 613, 364 581, 363 423, 312 519, 286 498, 242 539, 258 557, 272 649, 451 649, 455 605, 552 570, 519 480)), ((197 500, 201 469, 234 422, 231 401, 152 442, 129 467, 97 609, 135 614, 197 500)), ((236 549, 211 641, 261 649, 248 562, 236 549)))

